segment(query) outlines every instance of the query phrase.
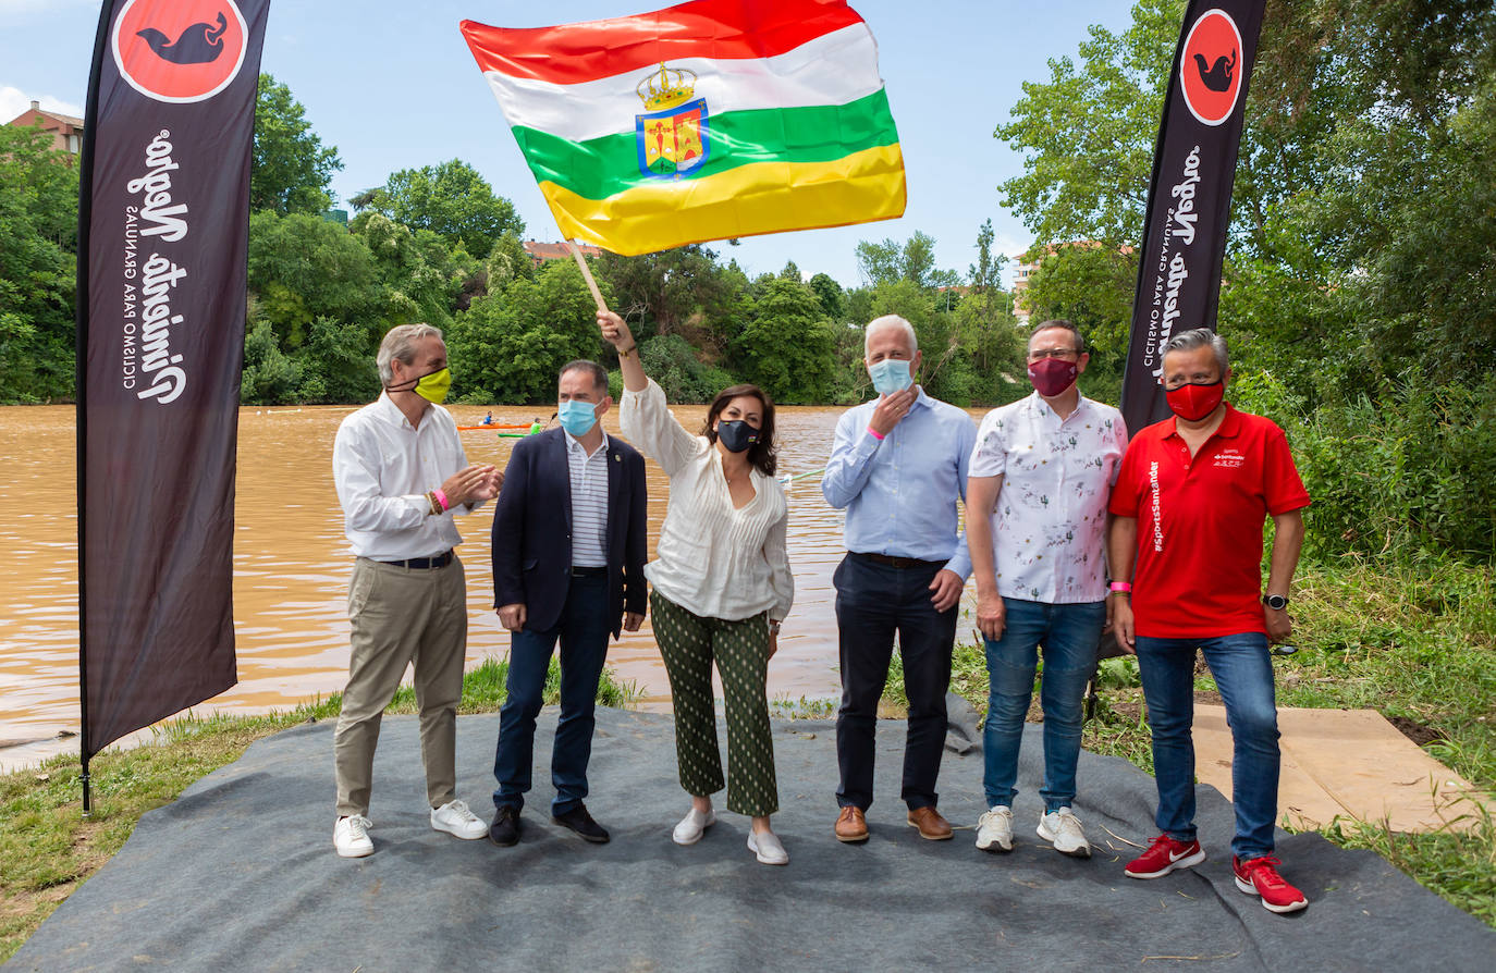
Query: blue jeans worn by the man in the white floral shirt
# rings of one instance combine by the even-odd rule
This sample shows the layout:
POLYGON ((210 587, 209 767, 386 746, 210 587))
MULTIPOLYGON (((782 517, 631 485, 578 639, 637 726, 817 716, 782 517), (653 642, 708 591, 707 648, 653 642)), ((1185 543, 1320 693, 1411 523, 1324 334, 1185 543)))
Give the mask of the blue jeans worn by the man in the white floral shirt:
POLYGON ((1023 717, 1034 695, 1038 647, 1044 646, 1044 810, 1068 807, 1076 800, 1076 761, 1080 759, 1082 707, 1086 683, 1097 662, 1097 643, 1107 620, 1104 601, 1049 605, 1004 598, 1007 623, 1002 638, 987 640, 987 722, 981 732, 983 786, 987 807, 1013 806, 1017 794, 1019 746, 1023 717))

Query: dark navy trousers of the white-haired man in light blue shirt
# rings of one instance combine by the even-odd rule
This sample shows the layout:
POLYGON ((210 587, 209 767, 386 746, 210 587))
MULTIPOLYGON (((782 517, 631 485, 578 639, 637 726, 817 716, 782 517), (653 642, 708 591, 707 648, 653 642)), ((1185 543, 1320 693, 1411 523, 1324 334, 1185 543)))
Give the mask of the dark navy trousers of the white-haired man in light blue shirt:
POLYGON ((945 749, 945 691, 956 641, 957 607, 936 611, 929 584, 941 565, 895 568, 856 555, 836 566, 836 629, 842 704, 836 713, 841 807, 872 806, 874 735, 878 698, 889 680, 893 637, 899 637, 910 723, 904 743, 904 786, 910 810, 934 807, 935 779, 945 749))

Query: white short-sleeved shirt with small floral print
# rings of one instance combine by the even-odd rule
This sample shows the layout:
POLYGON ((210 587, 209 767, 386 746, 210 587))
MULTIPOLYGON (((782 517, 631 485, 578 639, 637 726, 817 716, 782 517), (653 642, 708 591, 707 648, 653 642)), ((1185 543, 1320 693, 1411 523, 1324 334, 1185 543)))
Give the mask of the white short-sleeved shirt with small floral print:
POLYGON ((1002 477, 992 513, 999 595, 1052 605, 1106 599, 1107 501, 1125 451, 1122 413, 1085 396, 1064 420, 1037 392, 987 413, 969 468, 1002 477))

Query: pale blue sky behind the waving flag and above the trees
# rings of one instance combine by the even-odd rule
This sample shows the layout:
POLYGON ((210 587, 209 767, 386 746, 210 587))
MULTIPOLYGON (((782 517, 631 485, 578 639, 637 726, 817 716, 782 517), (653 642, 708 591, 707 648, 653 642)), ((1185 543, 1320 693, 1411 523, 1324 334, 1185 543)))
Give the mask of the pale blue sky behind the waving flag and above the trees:
MULTIPOLYGON (((458 21, 537 27, 657 6, 664 4, 272 0, 262 70, 290 85, 323 143, 338 148, 344 169, 332 190, 340 199, 398 169, 462 158, 515 202, 527 236, 554 241, 551 212, 458 21)), ((965 274, 977 230, 990 217, 998 250, 1020 253, 1031 236, 1002 208, 996 187, 1022 172, 1022 158, 992 130, 1007 120, 1025 81, 1049 78, 1047 58, 1074 57, 1089 24, 1123 28, 1131 4, 853 0, 853 7, 878 40, 908 172, 905 215, 714 247, 749 274, 778 272, 794 260, 803 274, 826 272, 844 285, 857 284, 853 250, 862 239, 904 241, 923 230, 938 242, 939 266, 965 274)), ((33 99, 82 115, 97 19, 97 1, 0 0, 0 118, 13 118, 33 99)))

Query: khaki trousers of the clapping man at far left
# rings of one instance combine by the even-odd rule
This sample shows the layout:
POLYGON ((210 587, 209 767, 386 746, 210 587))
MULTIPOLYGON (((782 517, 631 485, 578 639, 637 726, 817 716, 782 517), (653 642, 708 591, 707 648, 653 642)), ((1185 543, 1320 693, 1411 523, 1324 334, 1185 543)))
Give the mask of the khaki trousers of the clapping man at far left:
POLYGON ((349 583, 349 686, 332 738, 338 816, 368 815, 380 717, 408 664, 416 667, 426 800, 432 807, 446 804, 456 788, 458 701, 467 656, 462 562, 453 556, 444 568, 399 568, 359 557, 349 583))

